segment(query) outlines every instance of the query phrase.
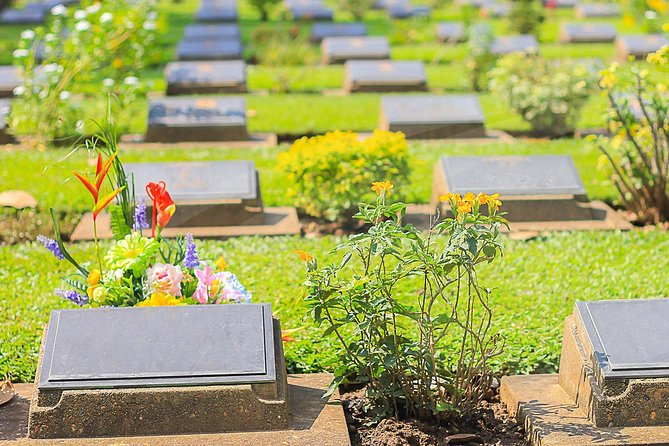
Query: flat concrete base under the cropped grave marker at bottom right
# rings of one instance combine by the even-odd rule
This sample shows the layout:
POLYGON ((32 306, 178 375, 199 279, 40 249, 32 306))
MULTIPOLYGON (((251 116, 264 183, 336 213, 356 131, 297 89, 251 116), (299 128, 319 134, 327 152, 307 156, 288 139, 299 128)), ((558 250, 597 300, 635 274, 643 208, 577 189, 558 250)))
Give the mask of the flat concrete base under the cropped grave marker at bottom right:
POLYGON ((558 383, 558 375, 502 378, 502 401, 524 423, 532 446, 667 445, 669 426, 595 427, 558 383))

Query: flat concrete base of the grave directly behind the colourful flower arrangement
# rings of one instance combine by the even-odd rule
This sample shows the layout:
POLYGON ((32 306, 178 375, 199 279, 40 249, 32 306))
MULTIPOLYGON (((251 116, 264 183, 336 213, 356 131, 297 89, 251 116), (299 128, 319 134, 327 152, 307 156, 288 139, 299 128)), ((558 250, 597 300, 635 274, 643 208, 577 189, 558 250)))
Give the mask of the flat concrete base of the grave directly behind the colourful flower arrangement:
MULTIPOLYGON (((273 236, 273 235, 296 235, 300 234, 302 225, 297 216, 295 208, 277 207, 264 208, 262 214, 252 218, 243 224, 236 226, 200 226, 200 227, 166 227, 162 231, 165 237, 193 234, 195 238, 226 239, 230 237, 241 237, 247 235, 273 236)), ((109 225, 109 215, 98 216, 98 238, 112 238, 109 225)), ((93 215, 87 213, 83 216, 72 235, 72 241, 93 240, 93 215)))

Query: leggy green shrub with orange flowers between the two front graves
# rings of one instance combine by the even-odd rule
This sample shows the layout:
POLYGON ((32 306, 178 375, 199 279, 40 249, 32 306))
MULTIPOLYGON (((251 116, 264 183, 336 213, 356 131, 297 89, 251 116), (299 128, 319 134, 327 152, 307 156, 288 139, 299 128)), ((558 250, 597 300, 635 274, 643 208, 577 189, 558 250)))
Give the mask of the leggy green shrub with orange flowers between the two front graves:
POLYGON ((361 204, 355 216, 371 228, 335 249, 340 262, 319 269, 298 253, 310 315, 344 352, 331 389, 351 376, 365 383, 376 417, 464 416, 488 390, 488 360, 501 352, 490 328, 490 289, 477 272, 501 255, 501 202, 496 195, 443 196, 454 217, 421 233, 402 225, 406 205, 388 202, 392 187, 373 184, 376 203, 361 204))

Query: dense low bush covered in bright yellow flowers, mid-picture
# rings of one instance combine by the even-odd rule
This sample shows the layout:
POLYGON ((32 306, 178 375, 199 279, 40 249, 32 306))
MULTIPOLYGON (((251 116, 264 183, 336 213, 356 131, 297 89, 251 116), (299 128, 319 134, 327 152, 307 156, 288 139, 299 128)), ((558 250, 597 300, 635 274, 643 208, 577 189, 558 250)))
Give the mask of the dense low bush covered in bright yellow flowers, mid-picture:
POLYGON ((307 214, 327 220, 355 213, 360 191, 374 178, 409 176, 409 148, 400 132, 375 130, 364 140, 352 132, 301 138, 279 155, 288 194, 307 214))

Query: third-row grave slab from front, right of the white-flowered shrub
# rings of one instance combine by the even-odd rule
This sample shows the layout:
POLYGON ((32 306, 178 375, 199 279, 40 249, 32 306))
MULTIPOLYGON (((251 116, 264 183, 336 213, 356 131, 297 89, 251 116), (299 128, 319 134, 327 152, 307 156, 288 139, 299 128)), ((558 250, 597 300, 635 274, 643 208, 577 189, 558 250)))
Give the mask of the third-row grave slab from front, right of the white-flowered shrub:
POLYGON ((244 98, 162 98, 149 102, 149 142, 245 139, 244 98))

